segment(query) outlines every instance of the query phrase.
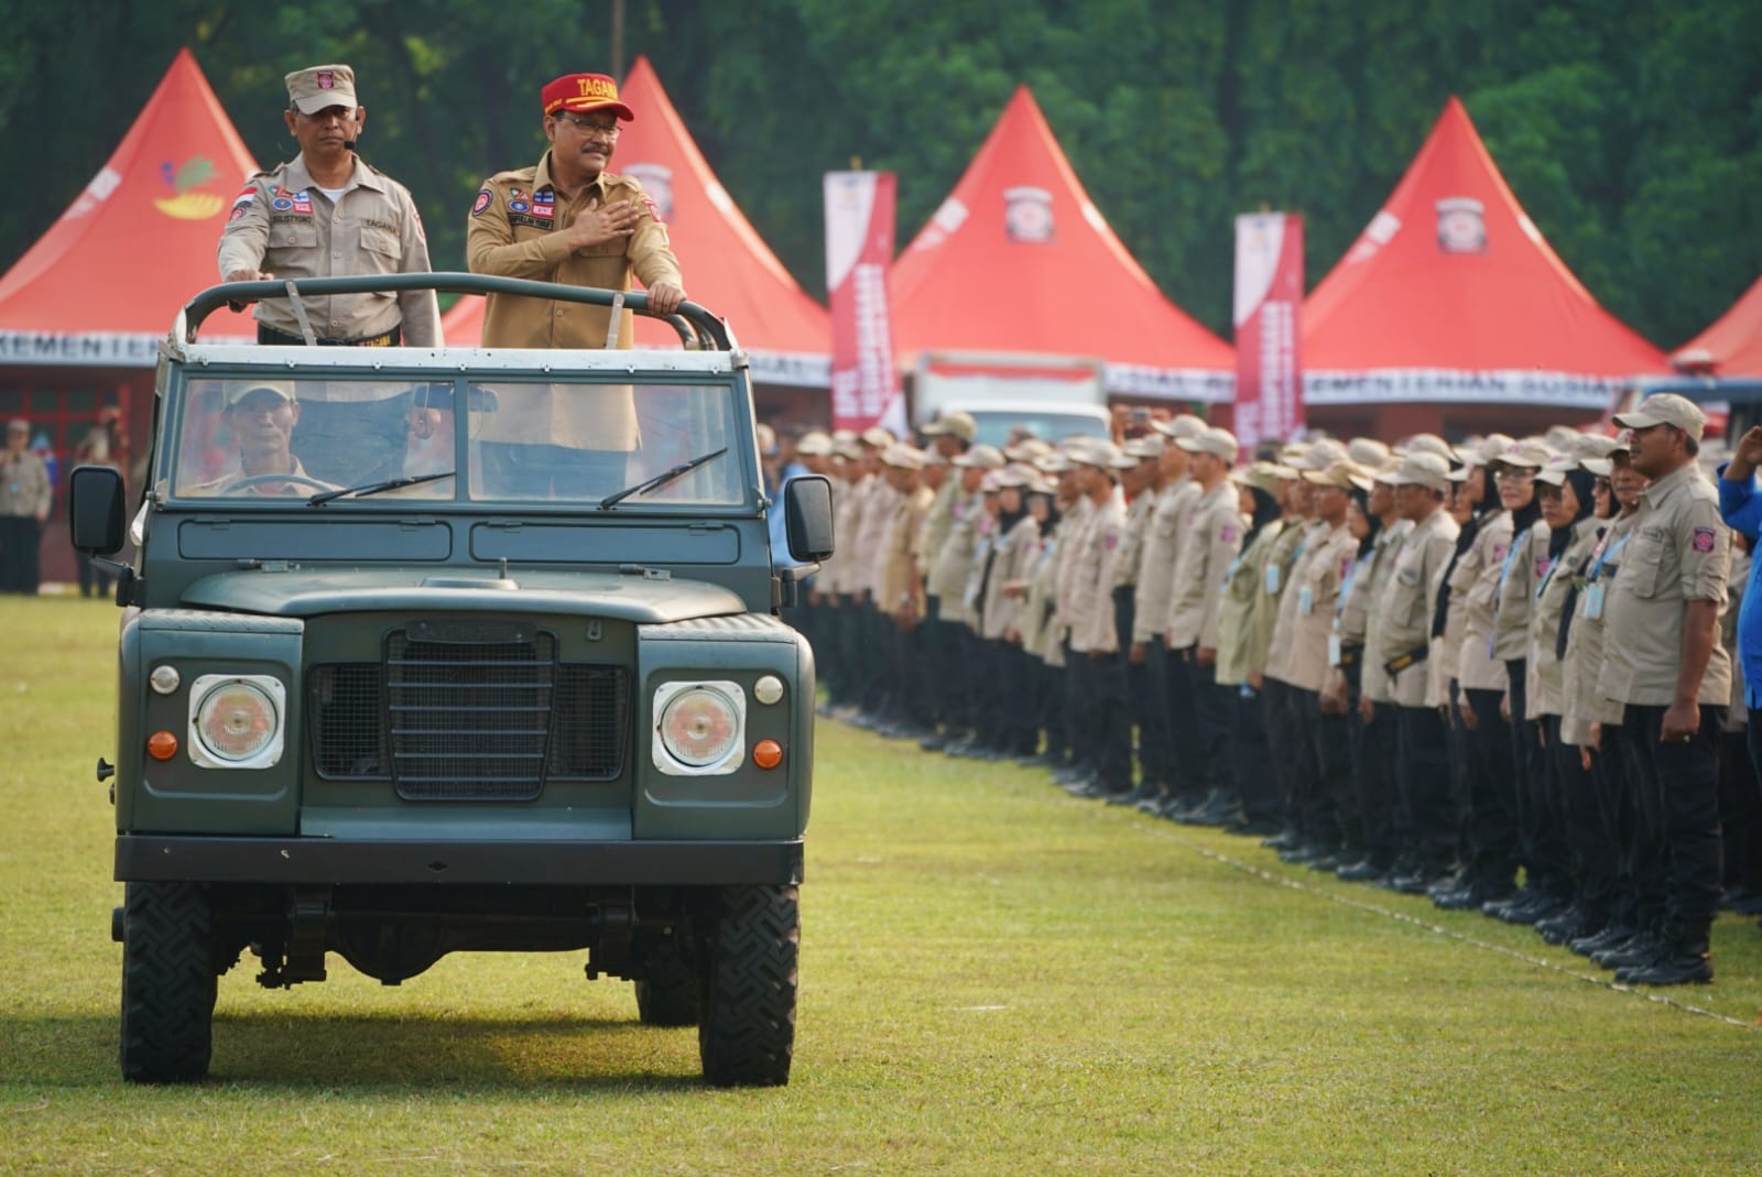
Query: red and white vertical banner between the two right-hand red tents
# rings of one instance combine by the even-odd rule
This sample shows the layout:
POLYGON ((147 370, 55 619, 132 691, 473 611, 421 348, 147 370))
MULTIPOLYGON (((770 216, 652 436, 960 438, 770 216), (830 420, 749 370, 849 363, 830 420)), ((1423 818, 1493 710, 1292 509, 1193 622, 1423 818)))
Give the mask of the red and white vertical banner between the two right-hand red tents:
POLYGON ((1304 428, 1304 218, 1247 213, 1235 218, 1235 437, 1304 428))

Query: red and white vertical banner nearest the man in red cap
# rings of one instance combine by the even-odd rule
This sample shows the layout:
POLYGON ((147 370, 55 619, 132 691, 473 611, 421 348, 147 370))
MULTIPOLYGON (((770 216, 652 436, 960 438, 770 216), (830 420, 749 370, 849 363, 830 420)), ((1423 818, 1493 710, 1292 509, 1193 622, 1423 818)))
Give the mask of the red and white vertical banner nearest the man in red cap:
POLYGON ((886 271, 893 263, 892 173, 826 173, 826 294, 832 305, 832 426, 906 425, 893 366, 886 271))

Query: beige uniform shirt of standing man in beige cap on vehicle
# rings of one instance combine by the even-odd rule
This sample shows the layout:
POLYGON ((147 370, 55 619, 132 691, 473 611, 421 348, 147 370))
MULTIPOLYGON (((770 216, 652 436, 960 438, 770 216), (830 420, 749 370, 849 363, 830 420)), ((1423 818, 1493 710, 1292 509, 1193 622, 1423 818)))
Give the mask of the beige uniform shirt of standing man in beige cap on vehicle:
MULTIPOLYGON (((222 278, 238 270, 261 270, 278 280, 428 273, 428 238, 409 189, 366 160, 354 160, 354 174, 331 204, 307 171, 305 155, 298 155, 245 181, 220 231, 218 263, 222 278)), ((300 301, 319 338, 372 338, 403 324, 405 347, 440 345, 433 291, 300 301)), ((257 303, 255 319, 300 335, 300 319, 285 298, 257 303)))

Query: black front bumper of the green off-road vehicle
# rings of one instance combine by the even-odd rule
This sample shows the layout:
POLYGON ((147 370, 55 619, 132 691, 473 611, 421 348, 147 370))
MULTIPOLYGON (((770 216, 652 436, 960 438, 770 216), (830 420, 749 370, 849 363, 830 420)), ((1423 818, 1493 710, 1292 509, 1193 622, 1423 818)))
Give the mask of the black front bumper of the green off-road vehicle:
POLYGON ((116 837, 116 881, 555 886, 796 885, 802 840, 398 842, 314 837, 116 837))

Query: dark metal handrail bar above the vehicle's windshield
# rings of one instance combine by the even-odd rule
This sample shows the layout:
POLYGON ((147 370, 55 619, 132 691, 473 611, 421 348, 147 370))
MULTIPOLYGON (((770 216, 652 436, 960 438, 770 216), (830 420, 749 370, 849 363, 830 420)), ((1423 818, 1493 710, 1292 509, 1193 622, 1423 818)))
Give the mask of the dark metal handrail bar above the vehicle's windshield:
POLYGON ((266 282, 222 282, 210 285, 183 307, 185 344, 196 342, 203 321, 226 305, 241 307, 271 298, 287 298, 289 289, 307 298, 329 294, 379 294, 393 291, 449 291, 456 294, 513 294, 587 307, 622 305, 678 331, 680 345, 692 351, 733 351, 728 326, 698 303, 680 303, 678 314, 657 315, 648 310, 641 291, 606 291, 594 285, 560 285, 530 278, 500 278, 486 273, 375 273, 349 278, 303 278, 266 282))

